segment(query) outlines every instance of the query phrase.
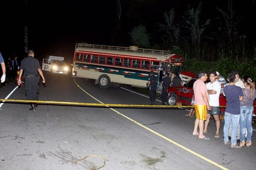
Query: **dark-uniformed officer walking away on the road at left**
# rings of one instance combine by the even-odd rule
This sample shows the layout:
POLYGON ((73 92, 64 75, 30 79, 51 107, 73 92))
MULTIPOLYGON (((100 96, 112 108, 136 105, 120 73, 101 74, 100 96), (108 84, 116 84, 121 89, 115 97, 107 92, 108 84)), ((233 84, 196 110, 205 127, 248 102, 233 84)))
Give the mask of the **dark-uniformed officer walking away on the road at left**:
MULTIPOLYGON (((28 57, 24 58, 21 62, 20 66, 20 75, 18 80, 18 85, 21 84, 21 75, 24 70, 25 77, 25 94, 28 100, 38 100, 38 91, 39 91, 39 80, 38 72, 43 79, 43 83, 45 83, 43 72, 40 68, 38 59, 34 58, 35 53, 33 50, 28 51, 28 57)), ((36 104, 31 103, 30 111, 35 111, 36 104)))

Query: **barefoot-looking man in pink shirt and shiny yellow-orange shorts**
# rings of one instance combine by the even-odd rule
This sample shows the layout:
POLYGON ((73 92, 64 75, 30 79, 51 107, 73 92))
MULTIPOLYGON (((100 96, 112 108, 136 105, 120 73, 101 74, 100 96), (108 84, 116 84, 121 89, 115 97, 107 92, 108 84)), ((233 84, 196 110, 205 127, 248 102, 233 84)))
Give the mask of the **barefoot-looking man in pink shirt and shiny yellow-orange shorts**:
POLYGON ((207 80, 207 73, 205 71, 200 71, 198 73, 198 80, 194 82, 193 89, 195 95, 195 127, 193 135, 199 135, 199 139, 209 138, 205 137, 203 134, 204 121, 207 119, 207 110, 210 111, 211 107, 209 105, 209 94, 207 92, 206 85, 204 82, 207 80), (198 133, 199 126, 199 133, 198 133))

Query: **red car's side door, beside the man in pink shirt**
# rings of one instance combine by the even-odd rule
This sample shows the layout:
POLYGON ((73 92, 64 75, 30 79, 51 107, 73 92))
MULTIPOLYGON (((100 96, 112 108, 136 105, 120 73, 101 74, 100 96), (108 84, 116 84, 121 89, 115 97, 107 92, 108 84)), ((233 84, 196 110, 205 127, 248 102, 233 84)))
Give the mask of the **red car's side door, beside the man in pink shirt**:
POLYGON ((188 82, 184 84, 183 88, 179 89, 179 101, 183 105, 191 105, 191 99, 194 95, 193 85, 196 79, 190 79, 188 82))

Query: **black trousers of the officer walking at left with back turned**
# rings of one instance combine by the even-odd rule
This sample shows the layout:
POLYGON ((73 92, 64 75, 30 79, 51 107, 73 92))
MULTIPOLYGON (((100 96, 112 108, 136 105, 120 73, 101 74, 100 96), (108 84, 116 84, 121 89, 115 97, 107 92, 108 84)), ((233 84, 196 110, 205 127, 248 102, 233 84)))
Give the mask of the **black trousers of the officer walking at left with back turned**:
POLYGON ((38 77, 25 78, 25 94, 28 100, 38 100, 39 79, 38 77))

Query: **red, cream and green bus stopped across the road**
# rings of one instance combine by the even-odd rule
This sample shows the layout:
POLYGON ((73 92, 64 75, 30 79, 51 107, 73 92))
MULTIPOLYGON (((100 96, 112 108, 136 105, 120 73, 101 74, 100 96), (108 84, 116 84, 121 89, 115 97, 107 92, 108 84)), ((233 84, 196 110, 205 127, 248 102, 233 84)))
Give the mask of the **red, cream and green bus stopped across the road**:
POLYGON ((95 79, 101 88, 122 84, 145 88, 149 72, 154 71, 160 87, 166 71, 180 71, 183 60, 170 51, 82 42, 76 43, 72 77, 95 79))

